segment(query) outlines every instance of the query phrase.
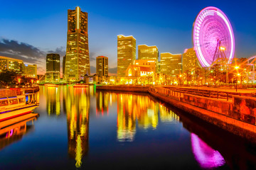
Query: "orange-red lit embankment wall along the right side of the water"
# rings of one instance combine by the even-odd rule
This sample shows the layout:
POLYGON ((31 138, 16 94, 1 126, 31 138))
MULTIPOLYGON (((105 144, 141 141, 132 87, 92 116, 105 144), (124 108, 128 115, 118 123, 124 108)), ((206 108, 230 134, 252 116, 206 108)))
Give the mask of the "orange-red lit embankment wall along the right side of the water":
POLYGON ((194 96, 152 86, 97 86, 97 90, 148 92, 208 123, 256 142, 256 99, 233 96, 230 101, 194 96))

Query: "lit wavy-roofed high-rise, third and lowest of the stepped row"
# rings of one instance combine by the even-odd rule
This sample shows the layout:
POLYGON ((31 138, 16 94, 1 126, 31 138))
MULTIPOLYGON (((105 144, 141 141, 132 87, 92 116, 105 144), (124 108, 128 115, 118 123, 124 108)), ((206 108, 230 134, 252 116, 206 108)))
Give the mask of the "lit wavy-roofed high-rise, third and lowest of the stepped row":
POLYGON ((161 53, 160 72, 170 76, 181 74, 181 54, 161 53))

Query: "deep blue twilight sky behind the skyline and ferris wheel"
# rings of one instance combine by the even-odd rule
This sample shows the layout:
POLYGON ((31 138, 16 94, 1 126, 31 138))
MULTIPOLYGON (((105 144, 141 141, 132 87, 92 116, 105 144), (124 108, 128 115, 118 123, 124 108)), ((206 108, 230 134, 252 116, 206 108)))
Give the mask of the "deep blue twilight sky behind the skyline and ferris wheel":
MULTIPOLYGON (((235 57, 256 55, 256 0, 243 1, 105 1, 0 0, 0 55, 46 72, 46 54, 65 55, 68 9, 88 13, 91 72, 95 57, 109 57, 110 73, 117 67, 117 35, 133 35, 137 45, 156 45, 161 52, 183 53, 192 47, 193 21, 206 6, 220 8, 233 26, 235 57)), ((159 55, 160 57, 160 55, 159 55)))

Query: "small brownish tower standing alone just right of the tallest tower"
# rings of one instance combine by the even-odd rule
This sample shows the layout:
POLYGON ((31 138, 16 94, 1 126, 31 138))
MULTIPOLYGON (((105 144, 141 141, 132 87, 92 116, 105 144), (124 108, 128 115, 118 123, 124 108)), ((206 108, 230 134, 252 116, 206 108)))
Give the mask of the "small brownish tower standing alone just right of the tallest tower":
POLYGON ((108 76, 108 57, 96 57, 96 74, 100 77, 108 76))

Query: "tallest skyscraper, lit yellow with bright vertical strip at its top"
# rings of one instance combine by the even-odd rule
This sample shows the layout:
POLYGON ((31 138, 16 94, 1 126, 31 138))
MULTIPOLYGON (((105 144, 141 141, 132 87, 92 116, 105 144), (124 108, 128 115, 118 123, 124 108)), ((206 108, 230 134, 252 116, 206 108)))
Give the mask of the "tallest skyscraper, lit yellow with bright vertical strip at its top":
POLYGON ((77 6, 68 9, 68 38, 65 57, 65 78, 79 81, 84 75, 90 75, 90 58, 87 33, 88 13, 77 6))

